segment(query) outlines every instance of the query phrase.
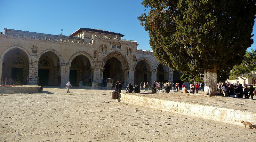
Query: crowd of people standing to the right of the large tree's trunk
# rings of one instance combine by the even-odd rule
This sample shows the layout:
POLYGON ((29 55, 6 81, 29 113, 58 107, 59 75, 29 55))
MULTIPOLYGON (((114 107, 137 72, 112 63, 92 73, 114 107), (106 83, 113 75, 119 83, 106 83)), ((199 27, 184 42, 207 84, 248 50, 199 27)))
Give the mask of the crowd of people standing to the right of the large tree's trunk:
POLYGON ((253 99, 254 88, 250 85, 248 88, 247 85, 243 88, 242 84, 234 85, 230 83, 219 83, 217 87, 217 94, 223 94, 224 97, 235 97, 235 98, 245 98, 245 99, 253 99), (232 96, 231 96, 232 95, 232 96))

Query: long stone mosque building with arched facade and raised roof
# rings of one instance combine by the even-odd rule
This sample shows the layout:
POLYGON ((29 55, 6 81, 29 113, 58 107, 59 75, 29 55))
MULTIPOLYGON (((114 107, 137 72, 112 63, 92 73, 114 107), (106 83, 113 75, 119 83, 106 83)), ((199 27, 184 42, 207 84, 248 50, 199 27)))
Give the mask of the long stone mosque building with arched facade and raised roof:
POLYGON ((153 51, 137 49, 124 35, 79 28, 69 36, 4 29, 0 33, 1 83, 65 86, 99 83, 108 78, 128 83, 181 82, 180 73, 160 64, 153 51))

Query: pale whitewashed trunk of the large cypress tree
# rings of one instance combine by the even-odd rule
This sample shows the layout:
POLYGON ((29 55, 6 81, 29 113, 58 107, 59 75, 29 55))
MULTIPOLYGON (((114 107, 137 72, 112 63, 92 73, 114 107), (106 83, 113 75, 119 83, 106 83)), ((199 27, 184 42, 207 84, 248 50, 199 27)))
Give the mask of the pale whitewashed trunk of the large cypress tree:
POLYGON ((204 94, 217 94, 217 67, 204 71, 204 94))

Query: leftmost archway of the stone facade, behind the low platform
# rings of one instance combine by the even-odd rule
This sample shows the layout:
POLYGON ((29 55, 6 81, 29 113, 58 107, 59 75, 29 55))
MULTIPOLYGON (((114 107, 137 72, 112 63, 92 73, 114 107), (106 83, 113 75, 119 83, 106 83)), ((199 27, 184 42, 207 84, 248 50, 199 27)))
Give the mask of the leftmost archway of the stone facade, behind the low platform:
POLYGON ((10 84, 12 78, 14 83, 28 84, 29 58, 26 52, 20 48, 13 48, 4 54, 2 81, 5 79, 10 84))

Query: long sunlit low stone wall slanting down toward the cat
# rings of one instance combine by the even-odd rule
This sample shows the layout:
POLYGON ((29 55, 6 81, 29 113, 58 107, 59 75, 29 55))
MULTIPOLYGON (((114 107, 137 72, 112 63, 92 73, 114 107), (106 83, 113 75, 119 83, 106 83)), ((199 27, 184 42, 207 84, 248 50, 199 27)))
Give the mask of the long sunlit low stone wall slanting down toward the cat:
POLYGON ((173 113, 185 114, 189 116, 201 117, 204 119, 232 123, 236 125, 243 125, 240 122, 241 120, 251 122, 252 124, 256 124, 256 113, 247 111, 182 103, 177 101, 155 99, 124 93, 121 93, 121 101, 130 104, 170 111, 173 113))

